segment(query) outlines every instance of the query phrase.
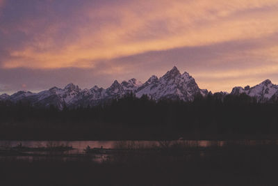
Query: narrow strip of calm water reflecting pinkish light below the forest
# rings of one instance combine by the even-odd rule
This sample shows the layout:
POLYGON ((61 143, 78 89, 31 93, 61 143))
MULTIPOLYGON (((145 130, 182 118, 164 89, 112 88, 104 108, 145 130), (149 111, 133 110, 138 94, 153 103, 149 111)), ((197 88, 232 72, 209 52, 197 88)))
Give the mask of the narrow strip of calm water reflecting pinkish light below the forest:
MULTIPOLYGON (((199 147, 209 147, 209 146, 224 146, 229 143, 229 141, 193 141, 193 140, 177 140, 177 141, 0 141, 1 148, 11 148, 18 144, 22 146, 37 148, 37 147, 53 147, 53 146, 72 146, 73 150, 68 150, 65 152, 52 153, 51 155, 57 155, 58 158, 62 160, 69 160, 78 158, 78 156, 85 155, 85 148, 90 146, 90 148, 154 148, 157 146, 170 146, 171 144, 183 144, 183 146, 199 146, 199 147)), ((236 144, 243 144, 247 146, 259 145, 259 144, 278 144, 277 141, 270 140, 241 140, 233 141, 236 144)), ((25 156, 15 156, 13 158, 19 160, 32 161, 34 158, 43 159, 47 158, 49 152, 35 152, 39 157, 33 157, 32 152, 30 155, 25 156), (45 156, 44 156, 45 155, 45 156)), ((55 158, 57 158, 55 157, 55 158)), ((0 156, 0 158, 3 158, 0 156)), ((6 158, 6 157, 5 157, 6 158)), ((93 160, 96 162, 101 162, 107 160, 108 155, 95 155, 93 160)))

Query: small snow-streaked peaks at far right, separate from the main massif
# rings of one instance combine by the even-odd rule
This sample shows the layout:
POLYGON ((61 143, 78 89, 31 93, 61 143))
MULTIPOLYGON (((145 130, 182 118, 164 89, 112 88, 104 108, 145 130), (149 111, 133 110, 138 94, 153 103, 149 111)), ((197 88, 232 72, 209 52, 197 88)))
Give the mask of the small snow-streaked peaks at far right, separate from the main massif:
POLYGON ((231 91, 232 95, 239 95, 241 93, 250 95, 251 97, 256 98, 259 102, 265 102, 267 100, 273 100, 277 97, 278 85, 272 84, 269 79, 266 79, 261 82, 261 84, 257 84, 251 88, 250 86, 245 86, 245 88, 236 86, 231 91))

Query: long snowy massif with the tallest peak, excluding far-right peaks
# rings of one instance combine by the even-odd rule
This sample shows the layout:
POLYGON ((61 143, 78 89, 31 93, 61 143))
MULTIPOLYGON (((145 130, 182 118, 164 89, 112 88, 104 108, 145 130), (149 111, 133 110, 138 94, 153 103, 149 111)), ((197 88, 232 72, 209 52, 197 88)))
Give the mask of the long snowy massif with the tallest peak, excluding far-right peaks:
MULTIPOLYGON (((154 100, 169 98, 190 101, 199 93, 208 95, 207 90, 199 89, 193 77, 187 72, 181 75, 178 68, 174 66, 171 70, 167 71, 163 77, 158 79, 158 77, 153 75, 144 84, 138 82, 135 78, 123 81, 121 84, 115 80, 107 89, 94 86, 90 90, 84 89, 81 91, 79 86, 71 83, 67 84, 65 88, 53 87, 40 93, 20 91, 9 96, 8 99, 13 101, 24 100, 24 98, 29 95, 35 95, 28 99, 46 107, 48 107, 47 105, 49 104, 54 104, 57 105, 59 109, 63 109, 63 105, 67 105, 67 107, 97 105, 113 98, 121 98, 123 95, 130 92, 135 93, 138 98, 142 95, 148 95, 154 100)), ((0 98, 2 97, 4 96, 1 95, 0 98)))

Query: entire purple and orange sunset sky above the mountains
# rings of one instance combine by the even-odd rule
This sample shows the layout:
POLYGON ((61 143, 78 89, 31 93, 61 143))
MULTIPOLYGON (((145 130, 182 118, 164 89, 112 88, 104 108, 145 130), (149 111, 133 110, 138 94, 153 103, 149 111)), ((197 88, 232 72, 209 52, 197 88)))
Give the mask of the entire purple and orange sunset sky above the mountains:
POLYGON ((161 77, 278 84, 278 0, 0 0, 0 94, 161 77))

